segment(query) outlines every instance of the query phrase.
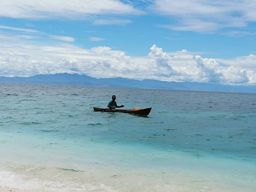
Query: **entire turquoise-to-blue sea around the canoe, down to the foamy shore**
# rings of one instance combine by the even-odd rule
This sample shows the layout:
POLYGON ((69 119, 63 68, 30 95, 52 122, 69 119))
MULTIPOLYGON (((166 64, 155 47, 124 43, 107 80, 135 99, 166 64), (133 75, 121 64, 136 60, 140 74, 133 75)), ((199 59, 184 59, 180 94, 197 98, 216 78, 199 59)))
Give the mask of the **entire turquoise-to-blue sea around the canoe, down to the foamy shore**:
POLYGON ((0 191, 256 191, 256 94, 0 84, 0 108, 0 191), (93 111, 112 95, 151 113, 93 111))

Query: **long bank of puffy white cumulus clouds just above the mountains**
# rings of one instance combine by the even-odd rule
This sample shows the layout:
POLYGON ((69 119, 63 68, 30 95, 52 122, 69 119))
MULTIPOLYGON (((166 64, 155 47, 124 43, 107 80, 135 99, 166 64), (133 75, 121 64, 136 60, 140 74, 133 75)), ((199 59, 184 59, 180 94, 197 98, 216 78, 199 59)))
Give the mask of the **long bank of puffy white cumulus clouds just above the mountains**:
MULTIPOLYGON (((1 34, 0 34, 1 35, 1 34)), ((77 73, 97 78, 124 77, 165 81, 256 84, 256 55, 230 60, 191 52, 164 52, 153 45, 146 57, 131 57, 111 47, 82 49, 72 44, 29 44, 19 36, 0 44, 0 76, 77 73)))

